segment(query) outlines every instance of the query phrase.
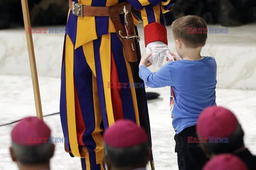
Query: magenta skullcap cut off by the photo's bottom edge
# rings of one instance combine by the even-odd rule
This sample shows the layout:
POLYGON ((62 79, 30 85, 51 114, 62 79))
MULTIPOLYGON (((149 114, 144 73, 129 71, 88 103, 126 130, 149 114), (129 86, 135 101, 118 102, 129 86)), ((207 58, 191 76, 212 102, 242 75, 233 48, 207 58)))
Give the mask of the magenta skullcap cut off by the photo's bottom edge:
POLYGON ((207 162, 203 170, 246 170, 247 166, 235 155, 220 154, 207 162))

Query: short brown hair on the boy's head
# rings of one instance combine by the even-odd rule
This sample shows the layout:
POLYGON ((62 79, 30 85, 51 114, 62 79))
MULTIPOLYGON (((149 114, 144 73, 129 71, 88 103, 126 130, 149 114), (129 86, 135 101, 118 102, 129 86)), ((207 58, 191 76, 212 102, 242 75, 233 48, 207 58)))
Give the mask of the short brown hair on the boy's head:
POLYGON ((173 38, 180 39, 186 47, 203 47, 207 39, 207 25, 200 16, 182 16, 173 21, 172 33, 173 38))

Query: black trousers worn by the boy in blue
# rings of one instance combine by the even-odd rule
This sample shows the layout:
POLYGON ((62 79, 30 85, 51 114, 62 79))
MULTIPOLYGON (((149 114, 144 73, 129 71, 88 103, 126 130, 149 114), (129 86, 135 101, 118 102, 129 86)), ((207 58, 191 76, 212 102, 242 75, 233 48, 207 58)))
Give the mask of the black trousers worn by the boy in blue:
POLYGON ((195 125, 174 135, 179 170, 202 169, 208 158, 200 148, 200 143, 188 143, 188 137, 197 138, 195 125))

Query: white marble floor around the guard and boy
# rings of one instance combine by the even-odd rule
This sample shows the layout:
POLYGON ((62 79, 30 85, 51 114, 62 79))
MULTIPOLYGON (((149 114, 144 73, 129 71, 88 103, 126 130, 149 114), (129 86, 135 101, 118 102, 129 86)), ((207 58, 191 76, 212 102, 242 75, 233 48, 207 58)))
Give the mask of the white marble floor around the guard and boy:
MULTIPOLYGON (((43 114, 59 112, 60 79, 39 77, 43 114)), ((174 131, 169 112, 169 88, 151 89, 159 92, 159 99, 148 102, 153 141, 153 155, 156 169, 178 169, 174 152, 174 131)), ((217 90, 217 104, 233 111, 245 131, 245 145, 256 154, 256 90, 217 90)), ((35 115, 33 89, 30 77, 0 75, 0 124, 35 115)), ((51 127, 52 136, 62 138, 60 116, 44 118, 51 127)), ((0 169, 18 169, 9 155, 10 132, 14 124, 0 126, 0 169)), ((63 149, 63 143, 55 143, 56 149, 51 160, 52 169, 80 169, 78 158, 71 158, 63 149)))

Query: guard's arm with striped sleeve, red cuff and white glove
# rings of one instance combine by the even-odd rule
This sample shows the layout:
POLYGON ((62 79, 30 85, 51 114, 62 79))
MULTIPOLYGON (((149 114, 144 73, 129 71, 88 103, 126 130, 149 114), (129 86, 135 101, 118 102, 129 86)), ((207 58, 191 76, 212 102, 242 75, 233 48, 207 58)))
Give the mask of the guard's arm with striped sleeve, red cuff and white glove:
MULTIPOLYGON (((127 0, 136 10, 141 12, 144 26, 145 46, 147 54, 152 54, 149 61, 153 65, 162 66, 164 56, 169 56, 167 47, 167 31, 163 13, 172 10, 177 0, 127 0)), ((171 56, 169 56, 171 57, 171 56)))

